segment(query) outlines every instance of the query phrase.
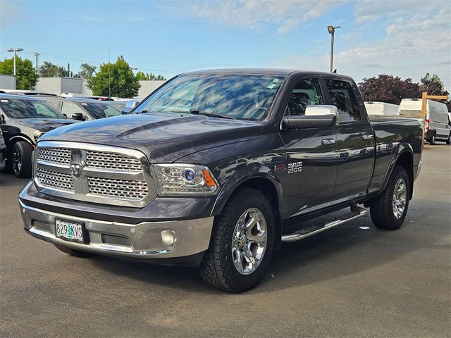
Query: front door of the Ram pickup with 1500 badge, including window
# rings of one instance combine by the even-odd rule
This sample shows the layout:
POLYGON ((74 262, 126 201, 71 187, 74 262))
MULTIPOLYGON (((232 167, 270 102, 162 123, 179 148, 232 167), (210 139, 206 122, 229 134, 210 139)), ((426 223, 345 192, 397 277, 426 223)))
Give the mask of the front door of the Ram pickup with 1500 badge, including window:
MULTIPOLYGON (((285 115, 304 115, 309 105, 324 104, 319 78, 299 77, 285 115)), ((280 130, 287 156, 282 218, 330 206, 335 187, 337 151, 333 127, 280 130)))

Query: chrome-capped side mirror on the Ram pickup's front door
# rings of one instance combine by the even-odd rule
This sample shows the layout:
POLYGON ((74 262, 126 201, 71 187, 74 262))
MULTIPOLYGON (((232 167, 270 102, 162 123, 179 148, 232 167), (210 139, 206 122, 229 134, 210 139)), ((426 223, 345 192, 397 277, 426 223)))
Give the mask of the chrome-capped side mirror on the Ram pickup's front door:
POLYGON ((282 129, 333 127, 337 123, 335 106, 307 106, 305 115, 289 115, 282 120, 282 129))

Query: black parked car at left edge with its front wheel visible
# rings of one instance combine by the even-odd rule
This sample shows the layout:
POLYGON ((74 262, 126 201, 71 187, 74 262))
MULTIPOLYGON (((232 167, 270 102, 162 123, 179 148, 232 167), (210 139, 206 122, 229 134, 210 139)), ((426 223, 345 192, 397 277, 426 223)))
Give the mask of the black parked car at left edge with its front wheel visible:
POLYGON ((0 94, 0 119, 6 159, 17 177, 31 177, 31 154, 39 137, 49 130, 75 122, 44 101, 10 94, 0 94))

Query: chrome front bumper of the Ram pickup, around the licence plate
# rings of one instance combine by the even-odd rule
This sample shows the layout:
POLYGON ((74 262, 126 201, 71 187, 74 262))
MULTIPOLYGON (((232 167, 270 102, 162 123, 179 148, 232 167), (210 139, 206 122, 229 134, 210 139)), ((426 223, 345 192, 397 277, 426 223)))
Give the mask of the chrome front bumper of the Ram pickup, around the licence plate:
POLYGON ((214 220, 209 217, 127 224, 51 213, 25 206, 22 201, 19 204, 25 230, 33 236, 71 249, 125 257, 180 258, 201 253, 209 247, 214 220), (57 238, 55 218, 84 223, 89 243, 79 244, 57 238), (163 237, 168 233, 174 236, 172 244, 164 242, 163 237))

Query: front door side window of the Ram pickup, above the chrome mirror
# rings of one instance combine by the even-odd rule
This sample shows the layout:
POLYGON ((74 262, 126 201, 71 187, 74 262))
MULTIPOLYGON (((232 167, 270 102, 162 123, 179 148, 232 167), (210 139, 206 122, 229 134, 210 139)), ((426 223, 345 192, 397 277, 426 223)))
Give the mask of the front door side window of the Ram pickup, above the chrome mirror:
POLYGON ((302 79, 297 82, 288 99, 288 115, 304 115, 307 106, 324 104, 318 79, 302 79))

